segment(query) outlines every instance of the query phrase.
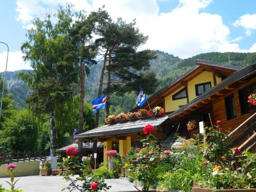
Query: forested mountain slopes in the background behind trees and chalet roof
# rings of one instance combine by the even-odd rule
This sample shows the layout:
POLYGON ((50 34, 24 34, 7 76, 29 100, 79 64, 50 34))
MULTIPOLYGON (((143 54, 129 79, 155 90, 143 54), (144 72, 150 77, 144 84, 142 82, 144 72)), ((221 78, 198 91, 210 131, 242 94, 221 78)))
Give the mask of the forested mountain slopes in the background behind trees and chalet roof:
MULTIPOLYGON (((167 86, 171 81, 176 79, 178 76, 185 73, 191 67, 196 65, 196 59, 204 59, 214 62, 230 63, 235 66, 245 67, 256 62, 256 53, 203 53, 187 59, 180 59, 172 54, 168 54, 162 51, 156 51, 157 58, 151 61, 151 69, 157 75, 159 79, 159 86, 156 91, 167 86)), ((22 70, 23 72, 29 73, 30 70, 22 70)), ((30 94, 30 90, 27 85, 17 78, 17 73, 7 72, 7 84, 9 93, 13 94, 15 102, 22 107, 26 107, 25 99, 30 94)), ((98 95, 99 77, 101 73, 101 65, 91 67, 90 76, 86 78, 86 100, 90 101, 96 98, 98 95)), ((148 96, 147 96, 148 97, 148 96)), ((116 94, 111 95, 112 106, 110 112, 112 114, 127 112, 135 106, 137 95, 135 93, 125 94, 120 97, 116 94)))

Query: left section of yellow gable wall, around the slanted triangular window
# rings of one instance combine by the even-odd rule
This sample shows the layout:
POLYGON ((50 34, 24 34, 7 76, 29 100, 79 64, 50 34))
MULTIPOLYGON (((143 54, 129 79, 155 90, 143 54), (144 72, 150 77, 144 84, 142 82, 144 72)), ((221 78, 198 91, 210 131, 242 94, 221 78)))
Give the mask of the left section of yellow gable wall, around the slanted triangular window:
POLYGON ((175 92, 171 93, 170 95, 168 95, 164 98, 165 112, 176 111, 176 110, 180 109, 179 105, 184 105, 187 103, 187 98, 173 100, 173 95, 176 94, 177 92, 179 92, 180 90, 182 90, 183 88, 184 88, 184 86, 181 86, 178 90, 176 90, 175 92))

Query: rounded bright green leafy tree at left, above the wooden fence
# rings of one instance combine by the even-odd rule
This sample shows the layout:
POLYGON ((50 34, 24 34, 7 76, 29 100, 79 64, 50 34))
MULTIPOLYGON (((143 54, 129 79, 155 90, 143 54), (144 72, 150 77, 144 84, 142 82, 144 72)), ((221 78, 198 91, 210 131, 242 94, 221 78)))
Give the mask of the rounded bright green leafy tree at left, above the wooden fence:
POLYGON ((8 151, 35 151, 38 124, 28 110, 20 110, 4 122, 0 145, 8 151))

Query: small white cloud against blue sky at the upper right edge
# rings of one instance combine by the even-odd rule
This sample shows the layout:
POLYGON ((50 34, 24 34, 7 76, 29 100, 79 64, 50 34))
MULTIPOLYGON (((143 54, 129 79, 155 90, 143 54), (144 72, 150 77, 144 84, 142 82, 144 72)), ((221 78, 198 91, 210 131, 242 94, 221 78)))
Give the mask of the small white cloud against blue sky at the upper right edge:
POLYGON ((234 27, 243 27, 246 36, 251 36, 252 30, 256 29, 256 14, 245 14, 233 23, 234 27))

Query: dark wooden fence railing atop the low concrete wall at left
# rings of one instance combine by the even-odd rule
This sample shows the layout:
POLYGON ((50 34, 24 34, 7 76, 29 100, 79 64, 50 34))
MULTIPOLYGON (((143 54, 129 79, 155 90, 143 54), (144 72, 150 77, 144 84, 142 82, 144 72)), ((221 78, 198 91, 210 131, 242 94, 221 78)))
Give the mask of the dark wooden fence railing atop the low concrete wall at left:
POLYGON ((36 152, 0 152, 0 165, 12 162, 25 162, 46 159, 46 154, 36 152))

